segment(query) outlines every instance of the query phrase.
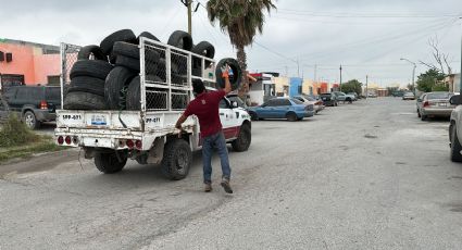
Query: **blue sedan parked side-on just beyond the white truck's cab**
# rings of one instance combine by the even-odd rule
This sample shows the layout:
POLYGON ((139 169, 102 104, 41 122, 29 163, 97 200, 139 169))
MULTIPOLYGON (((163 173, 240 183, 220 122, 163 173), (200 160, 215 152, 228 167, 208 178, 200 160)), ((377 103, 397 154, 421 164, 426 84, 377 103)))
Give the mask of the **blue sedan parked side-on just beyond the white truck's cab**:
POLYGON ((258 107, 250 107, 249 114, 252 120, 287 118, 300 121, 314 115, 313 105, 292 98, 274 98, 258 107))

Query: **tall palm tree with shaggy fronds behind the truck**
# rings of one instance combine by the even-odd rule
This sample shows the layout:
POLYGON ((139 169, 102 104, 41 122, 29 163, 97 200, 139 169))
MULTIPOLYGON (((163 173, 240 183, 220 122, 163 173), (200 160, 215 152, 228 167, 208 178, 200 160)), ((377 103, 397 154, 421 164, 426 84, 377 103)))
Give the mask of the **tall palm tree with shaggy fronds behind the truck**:
POLYGON ((237 49, 237 61, 242 70, 240 93, 247 92, 247 57, 244 48, 253 42, 257 33, 263 33, 264 10, 269 13, 276 9, 271 0, 210 0, 207 3, 209 20, 218 22, 223 32, 227 32, 232 45, 237 49))

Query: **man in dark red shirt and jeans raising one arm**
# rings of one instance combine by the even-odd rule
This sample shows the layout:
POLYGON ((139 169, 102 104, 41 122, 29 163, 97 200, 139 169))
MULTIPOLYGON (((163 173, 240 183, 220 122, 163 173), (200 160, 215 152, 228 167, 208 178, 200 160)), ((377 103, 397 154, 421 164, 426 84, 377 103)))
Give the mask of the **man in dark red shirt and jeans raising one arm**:
POLYGON ((205 192, 212 190, 212 151, 215 148, 222 164, 223 175, 221 185, 226 192, 233 193, 233 189, 229 185, 230 167, 228 151, 218 115, 220 101, 232 91, 228 71, 228 66, 222 68, 225 88, 217 91, 207 92, 202 80, 192 80, 192 91, 196 95, 196 99, 189 102, 185 113, 183 113, 175 125, 176 128, 182 129, 182 124, 191 114, 199 118, 200 136, 202 138, 203 183, 205 192))

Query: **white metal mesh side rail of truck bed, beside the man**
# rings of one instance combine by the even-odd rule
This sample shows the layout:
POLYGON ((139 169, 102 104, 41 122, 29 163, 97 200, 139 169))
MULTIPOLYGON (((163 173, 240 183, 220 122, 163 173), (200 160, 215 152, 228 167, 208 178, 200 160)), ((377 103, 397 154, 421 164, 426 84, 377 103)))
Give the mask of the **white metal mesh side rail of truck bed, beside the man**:
POLYGON ((211 59, 147 38, 140 40, 140 55, 143 111, 185 110, 192 99, 193 78, 202 79, 205 86, 215 87, 214 75, 205 73, 214 73, 214 61, 211 59), (198 65, 201 66, 198 68, 198 65))

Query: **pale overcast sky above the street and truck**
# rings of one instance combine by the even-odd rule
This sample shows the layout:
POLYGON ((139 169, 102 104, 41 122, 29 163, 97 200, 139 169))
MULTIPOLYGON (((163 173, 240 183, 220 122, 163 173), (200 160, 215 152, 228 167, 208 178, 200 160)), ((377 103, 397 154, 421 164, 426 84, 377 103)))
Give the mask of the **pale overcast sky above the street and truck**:
MULTIPOLYGON (((412 65, 400 58, 434 63, 427 42, 435 37, 454 72, 460 72, 460 0, 279 0, 275 4, 263 35, 247 48, 251 72, 311 79, 316 72, 319 80, 337 82, 342 64, 344 82, 364 83, 369 75, 382 86, 405 85, 412 65)), ((187 10, 179 0, 15 0, 1 5, 0 37, 40 43, 98 45, 122 28, 148 30, 166 41, 172 32, 187 30, 187 10)), ((227 34, 210 24, 204 8, 199 7, 192 23, 195 43, 212 42, 215 59, 236 57, 227 34)), ((417 65, 416 75, 424 71, 417 65)))

